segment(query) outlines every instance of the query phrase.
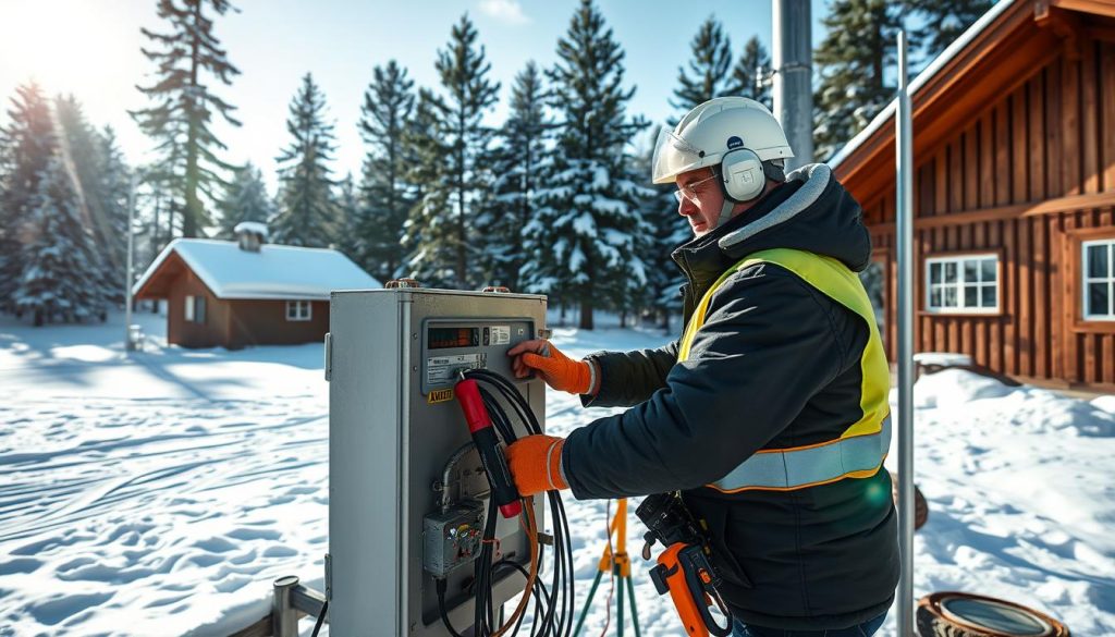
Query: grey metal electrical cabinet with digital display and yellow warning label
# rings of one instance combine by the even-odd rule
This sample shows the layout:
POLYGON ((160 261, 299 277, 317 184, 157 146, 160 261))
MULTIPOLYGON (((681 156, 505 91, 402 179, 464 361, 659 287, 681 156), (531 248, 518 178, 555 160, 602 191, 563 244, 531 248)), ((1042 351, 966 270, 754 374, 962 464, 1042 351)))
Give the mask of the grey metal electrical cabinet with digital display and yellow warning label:
MULTIPOLYGON (((474 451, 444 483, 446 462, 471 440, 453 399, 456 370, 485 367, 511 378, 506 353, 545 328, 545 297, 533 295, 420 288, 332 293, 326 344, 331 634, 448 635, 424 551, 458 551, 432 560, 452 567, 475 548, 475 533, 463 521, 483 521, 488 505, 474 451), (445 514, 443 495, 454 503, 445 514)), ((542 382, 513 382, 542 423, 542 382)), ((541 520, 542 499, 536 506, 541 520)), ((498 520, 500 554, 529 563, 518 520, 498 520)), ((457 630, 473 622, 472 576, 469 563, 446 577, 457 630)), ((517 573, 498 580, 495 602, 523 586, 517 573)))

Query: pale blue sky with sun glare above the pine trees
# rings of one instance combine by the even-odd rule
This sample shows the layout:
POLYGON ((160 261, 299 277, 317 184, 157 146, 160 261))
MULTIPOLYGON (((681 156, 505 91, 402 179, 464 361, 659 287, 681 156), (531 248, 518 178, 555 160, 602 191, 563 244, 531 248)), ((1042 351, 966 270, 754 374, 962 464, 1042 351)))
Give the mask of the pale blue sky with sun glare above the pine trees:
MULTIPOLYGON (((416 85, 436 87, 434 60, 468 12, 502 84, 500 120, 515 74, 526 60, 550 66, 576 0, 233 0, 239 12, 217 20, 215 35, 242 75, 217 94, 239 107, 241 128, 219 127, 225 158, 251 160, 274 184, 274 157, 287 144, 287 107, 307 71, 324 91, 338 137, 338 175, 359 172, 363 156, 357 122, 374 66, 397 59, 416 85)), ((813 39, 824 0, 812 0, 813 39)), ((152 65, 140 27, 164 29, 155 0, 0 0, 0 96, 4 110, 16 86, 36 77, 51 94, 74 93, 95 124, 112 124, 129 160, 151 143, 126 109, 146 105, 134 88, 152 65)), ((626 57, 627 85, 638 90, 631 112, 651 120, 672 114, 668 99, 678 66, 689 58, 699 25, 716 16, 737 54, 757 35, 769 48, 769 0, 597 0, 626 57)), ((7 115, 0 116, 7 122, 7 115)))

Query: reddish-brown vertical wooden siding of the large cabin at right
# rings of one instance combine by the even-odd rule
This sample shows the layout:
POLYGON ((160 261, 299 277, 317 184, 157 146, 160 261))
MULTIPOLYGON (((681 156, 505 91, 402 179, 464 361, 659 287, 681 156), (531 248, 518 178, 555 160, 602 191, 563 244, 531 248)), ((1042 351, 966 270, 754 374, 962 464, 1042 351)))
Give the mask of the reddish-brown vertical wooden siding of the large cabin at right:
MULTIPOLYGON (((1109 389, 1115 321, 1079 320, 1079 242, 1115 239, 1115 42, 1077 46, 1079 55, 1061 52, 975 117, 958 117, 963 128, 915 142, 931 151, 914 157, 914 347, 969 354, 1024 378, 1109 389), (925 311, 924 258, 949 252, 1001 254, 998 313, 925 311)), ((884 337, 893 357, 893 181, 873 193, 850 189, 864 203, 875 258, 888 261, 884 337)))

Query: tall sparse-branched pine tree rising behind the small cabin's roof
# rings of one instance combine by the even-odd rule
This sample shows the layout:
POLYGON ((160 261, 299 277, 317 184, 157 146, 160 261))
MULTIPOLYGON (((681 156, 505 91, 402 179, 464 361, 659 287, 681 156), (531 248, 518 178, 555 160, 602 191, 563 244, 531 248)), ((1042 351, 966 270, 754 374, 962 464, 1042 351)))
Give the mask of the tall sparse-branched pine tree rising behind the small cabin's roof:
POLYGON ((212 131, 213 115, 233 126, 235 107, 213 94, 213 80, 230 86, 240 74, 229 62, 220 40, 213 36, 213 17, 233 9, 229 0, 158 0, 158 17, 168 33, 140 29, 158 49, 142 49, 157 67, 157 80, 137 86, 154 106, 132 112, 140 129, 158 141, 161 171, 172 186, 175 207, 182 215, 182 233, 197 237, 211 223, 206 202, 219 200, 224 185, 221 171, 232 170, 217 157, 226 146, 212 131))

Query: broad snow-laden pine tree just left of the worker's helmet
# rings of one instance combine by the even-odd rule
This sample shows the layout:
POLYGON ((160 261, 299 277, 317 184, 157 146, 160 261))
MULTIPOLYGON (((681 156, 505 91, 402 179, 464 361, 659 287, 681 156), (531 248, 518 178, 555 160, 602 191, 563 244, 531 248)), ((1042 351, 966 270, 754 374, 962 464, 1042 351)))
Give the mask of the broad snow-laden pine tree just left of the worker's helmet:
POLYGON ((646 124, 627 116, 623 51, 592 0, 581 0, 558 62, 549 73, 561 126, 537 216, 525 229, 527 289, 580 305, 579 325, 593 327, 598 307, 624 309, 647 284, 643 255, 651 230, 639 202, 628 145, 646 124))

